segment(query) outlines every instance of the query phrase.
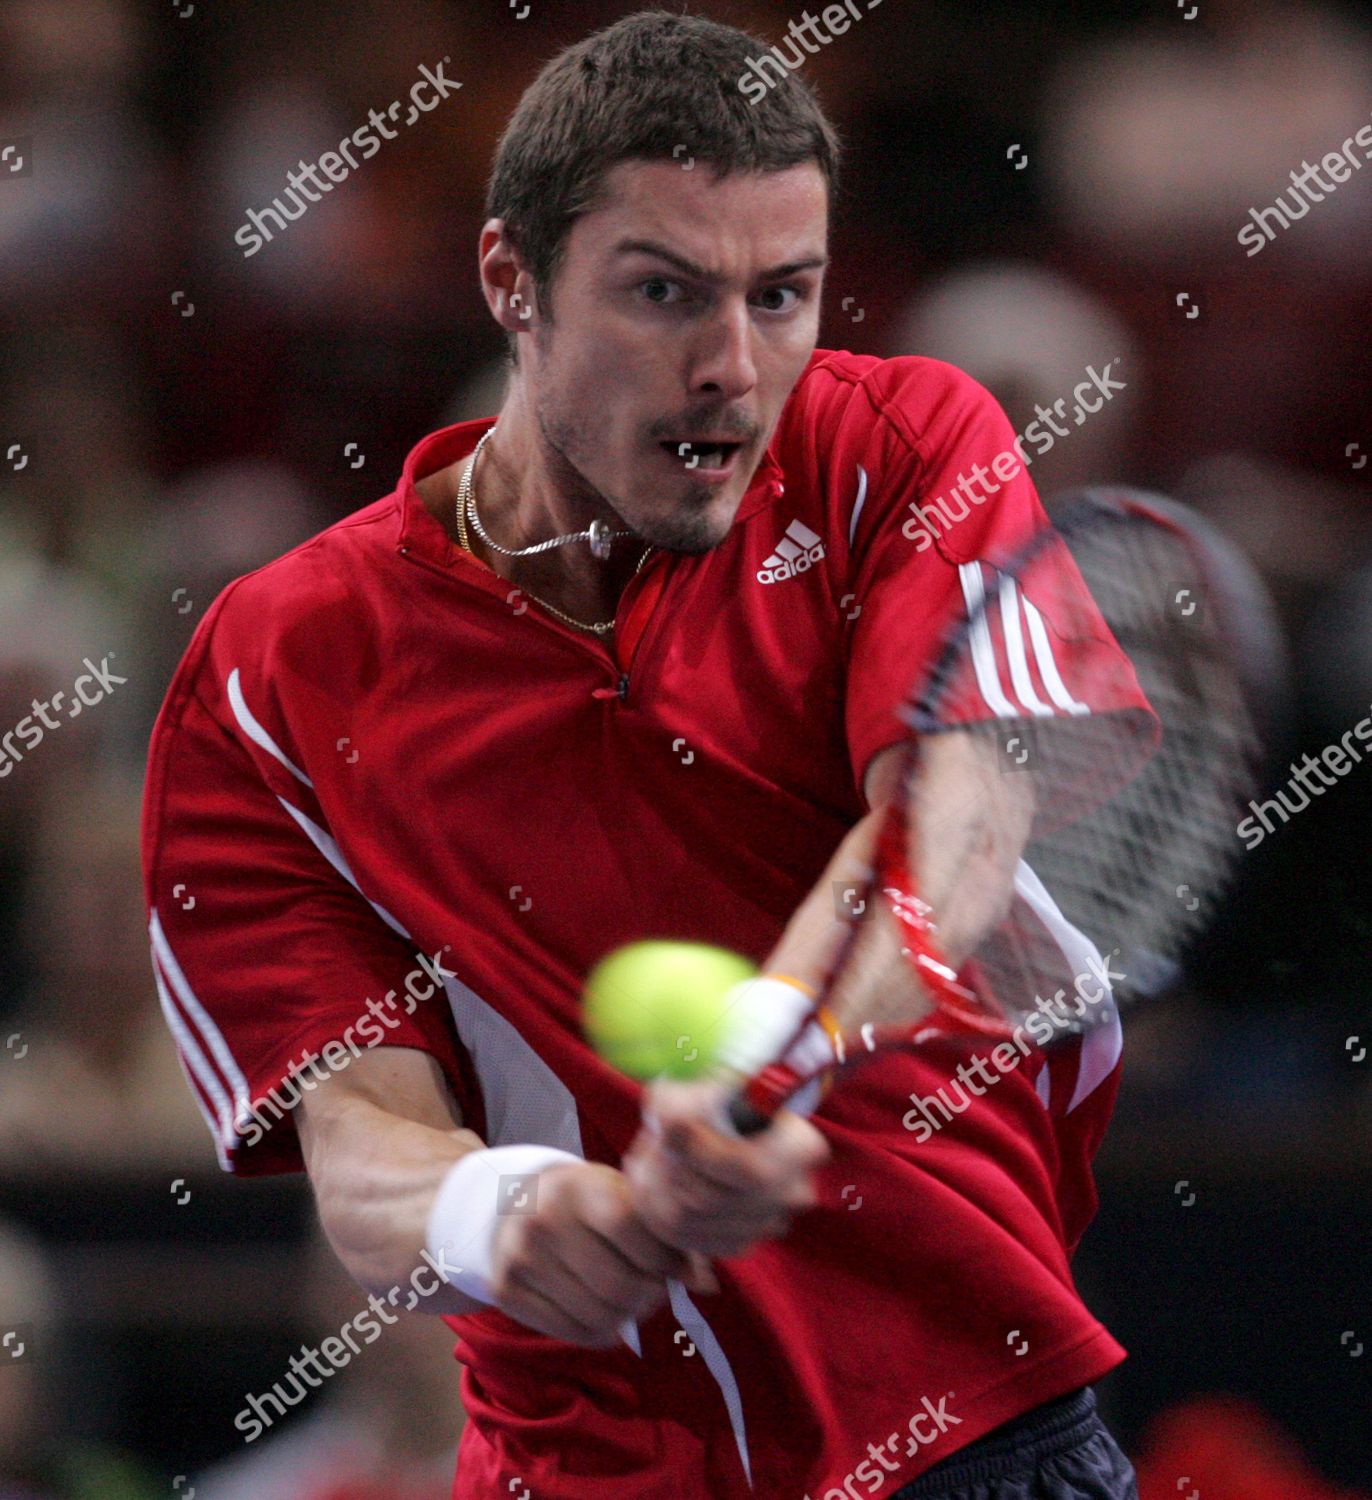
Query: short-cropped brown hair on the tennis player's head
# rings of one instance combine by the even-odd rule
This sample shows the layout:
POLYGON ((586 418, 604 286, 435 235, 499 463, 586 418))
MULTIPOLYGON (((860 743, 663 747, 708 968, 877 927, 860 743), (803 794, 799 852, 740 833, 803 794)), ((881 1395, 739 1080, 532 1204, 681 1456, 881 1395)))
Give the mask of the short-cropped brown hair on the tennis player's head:
POLYGON ((486 216, 505 220, 544 316, 567 236, 619 162, 694 158, 724 177, 813 160, 834 202, 841 144, 813 90, 787 76, 756 105, 739 90, 769 46, 705 16, 640 10, 544 66, 501 136, 486 192, 486 216))

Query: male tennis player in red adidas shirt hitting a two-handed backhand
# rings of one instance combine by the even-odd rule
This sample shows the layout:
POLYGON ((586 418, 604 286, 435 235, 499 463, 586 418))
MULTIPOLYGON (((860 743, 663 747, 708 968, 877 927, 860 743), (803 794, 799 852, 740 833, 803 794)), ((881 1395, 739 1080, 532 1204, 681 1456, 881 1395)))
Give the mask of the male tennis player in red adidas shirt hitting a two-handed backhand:
MULTIPOLYGON (((459 1500, 1134 1496, 1090 1392, 1123 1350, 1069 1270, 1117 1030, 981 1082, 892 1054, 751 1140, 699 1086, 645 1125, 582 1035, 636 938, 817 976, 894 705, 1042 520, 972 380, 816 348, 838 141, 798 76, 741 92, 765 50, 643 12, 523 96, 480 238, 499 416, 231 585, 171 686, 162 1005, 225 1168, 304 1167, 370 1326, 457 1334, 459 1500)), ((1051 624, 987 693, 1122 675, 1051 624)), ((988 910, 1011 771, 921 849, 981 861, 988 910)))

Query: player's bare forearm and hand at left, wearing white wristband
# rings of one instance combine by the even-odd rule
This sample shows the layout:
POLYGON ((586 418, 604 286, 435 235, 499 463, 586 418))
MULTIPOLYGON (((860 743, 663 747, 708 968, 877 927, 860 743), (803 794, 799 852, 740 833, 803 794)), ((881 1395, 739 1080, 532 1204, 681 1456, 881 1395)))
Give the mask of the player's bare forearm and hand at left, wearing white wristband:
POLYGON ((403 1287, 423 1312, 498 1306, 607 1348, 666 1299, 669 1276, 718 1290, 699 1256, 648 1230, 622 1172, 547 1146, 487 1148, 463 1130, 421 1050, 366 1053, 306 1096, 297 1125, 324 1230, 373 1298, 403 1287), (531 1178, 535 1191, 502 1212, 502 1186, 531 1178))

